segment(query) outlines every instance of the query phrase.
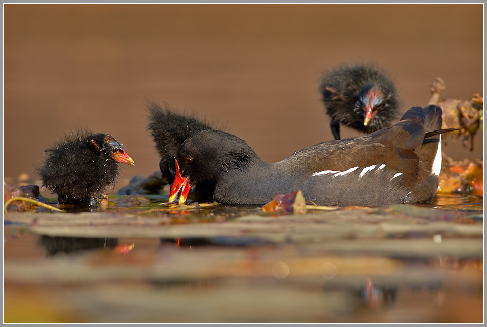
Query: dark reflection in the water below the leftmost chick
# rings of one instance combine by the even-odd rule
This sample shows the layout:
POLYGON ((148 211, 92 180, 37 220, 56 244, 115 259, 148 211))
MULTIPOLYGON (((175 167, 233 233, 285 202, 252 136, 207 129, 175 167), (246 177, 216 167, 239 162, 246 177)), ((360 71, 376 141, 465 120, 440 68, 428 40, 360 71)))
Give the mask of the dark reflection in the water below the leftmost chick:
POLYGON ((117 238, 52 237, 41 235, 39 239, 39 245, 46 249, 46 256, 99 248, 109 249, 117 246, 117 244, 117 238))

